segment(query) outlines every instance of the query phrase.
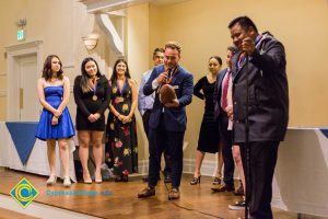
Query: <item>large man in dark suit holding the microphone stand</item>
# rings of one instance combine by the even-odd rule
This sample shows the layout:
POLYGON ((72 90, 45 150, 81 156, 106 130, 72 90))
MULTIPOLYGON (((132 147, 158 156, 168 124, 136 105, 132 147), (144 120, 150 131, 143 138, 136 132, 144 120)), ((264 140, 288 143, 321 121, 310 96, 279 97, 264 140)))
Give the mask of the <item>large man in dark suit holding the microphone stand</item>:
POLYGON ((270 33, 259 34, 247 16, 234 19, 229 28, 239 49, 232 60, 233 119, 234 143, 241 147, 244 170, 247 77, 249 80, 250 178, 246 181, 249 212, 256 219, 272 218, 272 177, 278 147, 289 122, 284 47, 270 33))

